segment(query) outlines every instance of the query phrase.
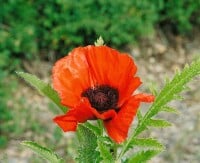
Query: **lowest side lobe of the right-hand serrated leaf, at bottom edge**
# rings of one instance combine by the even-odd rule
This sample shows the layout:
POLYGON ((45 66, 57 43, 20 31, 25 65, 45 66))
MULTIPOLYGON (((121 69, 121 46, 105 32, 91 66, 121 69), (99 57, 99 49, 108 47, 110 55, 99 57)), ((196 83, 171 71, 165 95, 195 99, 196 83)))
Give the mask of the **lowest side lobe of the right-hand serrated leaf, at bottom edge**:
POLYGON ((141 151, 130 157, 130 159, 128 159, 128 163, 146 163, 158 153, 160 153, 159 150, 141 151))

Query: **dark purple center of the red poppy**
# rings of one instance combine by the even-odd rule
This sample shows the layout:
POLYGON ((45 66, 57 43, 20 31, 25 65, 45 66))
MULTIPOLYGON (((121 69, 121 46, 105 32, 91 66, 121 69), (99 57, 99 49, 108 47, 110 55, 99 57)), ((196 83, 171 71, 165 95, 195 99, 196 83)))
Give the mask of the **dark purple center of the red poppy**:
POLYGON ((116 88, 100 85, 94 88, 88 88, 82 93, 82 96, 87 97, 91 106, 99 112, 118 109, 117 102, 119 100, 119 93, 116 88))

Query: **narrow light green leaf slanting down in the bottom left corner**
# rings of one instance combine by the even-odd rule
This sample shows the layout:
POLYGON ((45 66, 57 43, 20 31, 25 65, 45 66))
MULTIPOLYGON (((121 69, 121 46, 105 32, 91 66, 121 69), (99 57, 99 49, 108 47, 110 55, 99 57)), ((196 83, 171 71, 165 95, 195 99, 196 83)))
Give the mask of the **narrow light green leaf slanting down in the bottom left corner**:
POLYGON ((36 154, 40 155, 42 158, 48 160, 49 162, 64 163, 64 160, 61 158, 58 158, 58 156, 52 150, 45 148, 35 142, 23 141, 21 144, 30 148, 36 154))

